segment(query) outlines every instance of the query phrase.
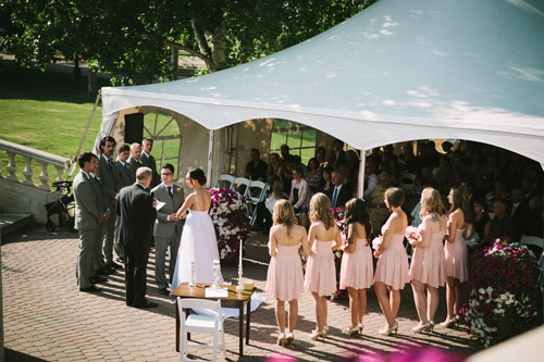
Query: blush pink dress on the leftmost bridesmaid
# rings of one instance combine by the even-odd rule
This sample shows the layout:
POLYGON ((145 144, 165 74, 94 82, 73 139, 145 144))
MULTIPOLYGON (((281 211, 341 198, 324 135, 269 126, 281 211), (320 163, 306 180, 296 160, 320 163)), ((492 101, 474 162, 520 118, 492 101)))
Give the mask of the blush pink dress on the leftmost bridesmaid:
POLYGON ((302 263, 299 245, 276 246, 276 254, 270 259, 267 291, 273 298, 289 301, 300 298, 304 290, 302 263))

